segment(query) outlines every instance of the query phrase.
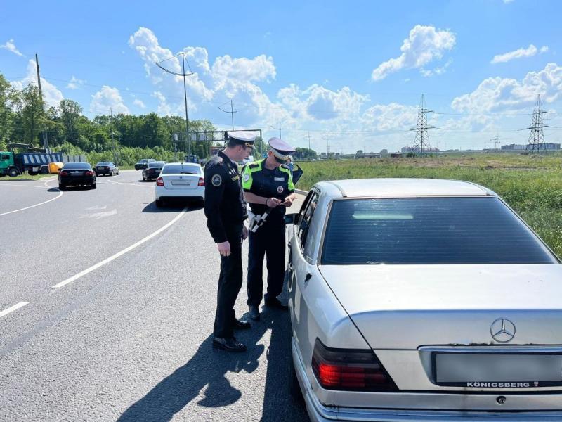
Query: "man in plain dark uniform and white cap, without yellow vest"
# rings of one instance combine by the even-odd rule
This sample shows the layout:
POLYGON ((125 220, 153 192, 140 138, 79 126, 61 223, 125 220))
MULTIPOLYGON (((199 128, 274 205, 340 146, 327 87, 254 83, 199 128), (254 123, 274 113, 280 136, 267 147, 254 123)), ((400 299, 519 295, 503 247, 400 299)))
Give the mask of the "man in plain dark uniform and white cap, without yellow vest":
POLYGON ((246 202, 242 193, 237 162, 254 148, 252 132, 226 132, 226 148, 205 165, 205 216, 207 227, 221 254, 221 275, 214 324, 213 347, 228 352, 244 352, 246 346, 234 337, 233 330, 250 328, 236 319, 234 304, 242 287, 242 241, 247 238, 246 202))

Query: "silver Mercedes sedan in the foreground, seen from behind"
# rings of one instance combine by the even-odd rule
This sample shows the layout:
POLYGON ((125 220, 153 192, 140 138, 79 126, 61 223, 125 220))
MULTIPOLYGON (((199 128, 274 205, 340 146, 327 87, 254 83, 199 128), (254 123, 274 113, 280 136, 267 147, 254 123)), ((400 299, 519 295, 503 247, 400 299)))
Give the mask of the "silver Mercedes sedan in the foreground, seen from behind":
POLYGON ((562 421, 562 266, 464 181, 322 181, 289 306, 313 421, 562 421))

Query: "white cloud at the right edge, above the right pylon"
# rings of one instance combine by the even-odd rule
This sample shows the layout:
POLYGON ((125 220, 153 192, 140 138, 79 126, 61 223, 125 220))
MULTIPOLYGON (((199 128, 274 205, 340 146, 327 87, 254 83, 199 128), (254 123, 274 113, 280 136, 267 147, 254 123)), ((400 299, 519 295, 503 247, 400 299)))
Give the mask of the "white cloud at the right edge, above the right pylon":
POLYGON ((455 98, 451 107, 468 113, 497 112, 532 106, 537 94, 553 103, 562 96, 562 67, 547 64, 543 70, 528 72, 521 80, 489 77, 470 94, 455 98))

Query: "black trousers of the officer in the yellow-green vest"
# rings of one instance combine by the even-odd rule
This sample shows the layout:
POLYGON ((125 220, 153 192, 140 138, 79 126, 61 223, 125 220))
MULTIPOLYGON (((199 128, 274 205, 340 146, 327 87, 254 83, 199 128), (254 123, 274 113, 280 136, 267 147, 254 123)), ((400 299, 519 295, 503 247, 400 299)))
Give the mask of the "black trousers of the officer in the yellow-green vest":
POLYGON ((255 233, 249 234, 248 305, 259 305, 263 296, 263 256, 267 257, 268 298, 277 298, 285 281, 285 222, 267 221, 255 233))

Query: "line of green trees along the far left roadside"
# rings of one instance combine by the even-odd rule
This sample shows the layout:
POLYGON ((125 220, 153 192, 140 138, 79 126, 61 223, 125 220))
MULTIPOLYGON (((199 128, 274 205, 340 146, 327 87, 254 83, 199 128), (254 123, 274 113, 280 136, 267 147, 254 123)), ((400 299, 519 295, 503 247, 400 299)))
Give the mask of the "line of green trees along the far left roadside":
MULTIPOLYGON (((173 160, 175 133, 185 139, 185 119, 179 116, 97 115, 92 120, 82 114, 79 103, 63 99, 57 106, 45 107, 34 84, 15 89, 0 74, 0 151, 8 143, 32 143, 43 146, 44 136, 53 151, 88 155, 89 161, 117 160, 132 165, 141 158, 173 160)), ((209 120, 190 120, 190 132, 216 130, 209 120)), ((265 150, 259 140, 259 151, 265 150)), ((199 158, 209 155, 211 141, 190 144, 199 158)), ((187 151, 186 143, 177 143, 178 159, 187 151)))

